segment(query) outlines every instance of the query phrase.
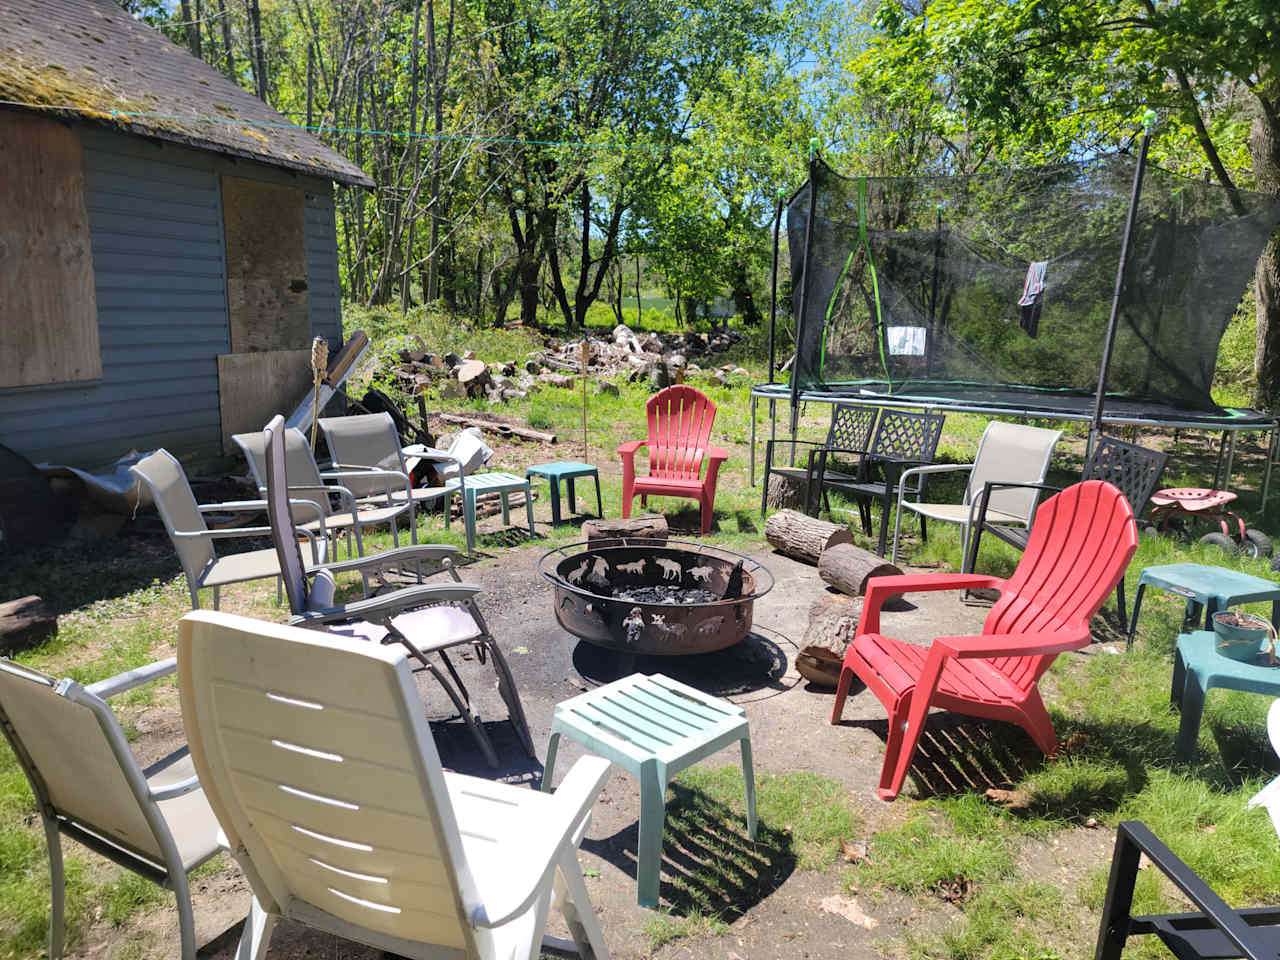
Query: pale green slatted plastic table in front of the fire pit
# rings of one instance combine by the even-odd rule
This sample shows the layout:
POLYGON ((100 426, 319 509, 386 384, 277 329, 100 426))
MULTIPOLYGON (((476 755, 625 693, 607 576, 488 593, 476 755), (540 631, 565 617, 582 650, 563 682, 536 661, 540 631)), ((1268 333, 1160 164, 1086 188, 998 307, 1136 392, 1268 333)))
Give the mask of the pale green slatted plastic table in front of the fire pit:
POLYGON ((742 745, 746 828, 755 840, 755 777, 746 710, 660 673, 632 673, 556 707, 543 790, 552 788, 556 751, 567 736, 640 781, 637 900, 658 906, 667 783, 680 771, 736 741, 742 745))

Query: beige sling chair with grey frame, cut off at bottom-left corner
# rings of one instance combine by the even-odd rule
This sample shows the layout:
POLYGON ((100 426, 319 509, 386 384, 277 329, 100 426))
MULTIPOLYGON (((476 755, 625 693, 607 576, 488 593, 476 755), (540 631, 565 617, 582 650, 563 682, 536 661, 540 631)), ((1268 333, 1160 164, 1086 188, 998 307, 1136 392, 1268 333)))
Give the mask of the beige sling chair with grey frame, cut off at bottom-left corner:
POLYGON ((49 845, 49 956, 65 941, 61 837, 173 891, 183 960, 195 960, 187 874, 219 850, 218 820, 183 748, 138 767, 106 700, 177 669, 173 658, 81 686, 0 659, 0 730, 27 774, 49 845))

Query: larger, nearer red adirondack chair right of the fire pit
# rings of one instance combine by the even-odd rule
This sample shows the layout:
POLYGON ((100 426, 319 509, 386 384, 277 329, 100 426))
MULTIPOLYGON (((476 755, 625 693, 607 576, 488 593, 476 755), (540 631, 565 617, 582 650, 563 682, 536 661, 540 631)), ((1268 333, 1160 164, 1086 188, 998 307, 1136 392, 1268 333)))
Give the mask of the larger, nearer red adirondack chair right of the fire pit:
POLYGON ((1124 494, 1089 480, 1041 506, 1009 580, 974 573, 872 579, 831 722, 840 722, 856 673, 888 710, 881 799, 892 800, 901 790, 929 707, 1016 723, 1046 755, 1057 753, 1037 682, 1057 654, 1088 645, 1089 620, 1137 549, 1138 527, 1124 494), (879 632, 881 607, 895 594, 974 588, 1000 590, 980 636, 940 636, 919 646, 879 632))

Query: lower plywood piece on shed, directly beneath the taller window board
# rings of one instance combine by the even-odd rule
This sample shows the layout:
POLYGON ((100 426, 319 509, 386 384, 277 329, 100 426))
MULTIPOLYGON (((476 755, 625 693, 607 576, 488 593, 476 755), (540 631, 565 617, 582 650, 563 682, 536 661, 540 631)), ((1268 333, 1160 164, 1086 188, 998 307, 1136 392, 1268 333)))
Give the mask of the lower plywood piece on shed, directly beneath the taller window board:
MULTIPOLYGON (((233 434, 261 430, 291 410, 311 389, 311 351, 223 353, 218 357, 218 406, 223 415, 223 452, 237 456, 233 434)), ((301 429, 306 430, 305 425, 301 429)))

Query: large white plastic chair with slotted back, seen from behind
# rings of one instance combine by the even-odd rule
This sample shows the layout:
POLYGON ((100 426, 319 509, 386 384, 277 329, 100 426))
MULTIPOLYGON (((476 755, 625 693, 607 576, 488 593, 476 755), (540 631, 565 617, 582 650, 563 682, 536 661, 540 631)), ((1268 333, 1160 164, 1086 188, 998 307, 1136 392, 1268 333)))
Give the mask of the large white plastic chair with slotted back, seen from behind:
POLYGON ((183 617, 178 689, 253 891, 239 960, 282 918, 406 957, 607 960, 577 861, 607 760, 554 794, 444 773, 403 649, 227 613, 183 617), (543 936, 553 905, 572 943, 543 936))

